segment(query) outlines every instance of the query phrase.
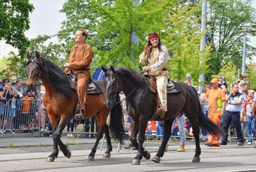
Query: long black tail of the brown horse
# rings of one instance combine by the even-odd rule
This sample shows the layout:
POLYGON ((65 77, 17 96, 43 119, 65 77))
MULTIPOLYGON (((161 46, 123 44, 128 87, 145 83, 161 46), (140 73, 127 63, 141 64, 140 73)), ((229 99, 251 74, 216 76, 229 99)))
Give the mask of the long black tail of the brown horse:
MULTIPOLYGON (((120 97, 118 99, 120 101, 120 97)), ((111 110, 109 131, 114 140, 124 145, 126 136, 124 131, 124 113, 120 103, 115 104, 111 110)))

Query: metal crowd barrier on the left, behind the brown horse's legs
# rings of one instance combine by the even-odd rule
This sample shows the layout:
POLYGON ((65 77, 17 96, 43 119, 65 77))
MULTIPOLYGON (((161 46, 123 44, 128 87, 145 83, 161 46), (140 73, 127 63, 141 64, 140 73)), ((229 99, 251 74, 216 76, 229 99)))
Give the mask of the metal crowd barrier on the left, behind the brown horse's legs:
MULTIPOLYGON (((35 99, 10 99, 0 101, 0 134, 5 133, 34 133, 36 136, 44 136, 44 133, 52 133, 51 124, 47 115, 42 110, 42 100, 35 99), (39 134, 38 134, 39 133, 39 134)), ((96 134, 97 122, 95 117, 87 120, 73 120, 68 122, 67 128, 72 131, 72 127, 76 128, 77 124, 84 125, 84 131, 79 133, 96 134), (90 131, 90 132, 89 132, 90 131)), ((72 131, 72 132, 71 132, 72 131)), ((63 131, 63 133, 67 133, 63 131)))

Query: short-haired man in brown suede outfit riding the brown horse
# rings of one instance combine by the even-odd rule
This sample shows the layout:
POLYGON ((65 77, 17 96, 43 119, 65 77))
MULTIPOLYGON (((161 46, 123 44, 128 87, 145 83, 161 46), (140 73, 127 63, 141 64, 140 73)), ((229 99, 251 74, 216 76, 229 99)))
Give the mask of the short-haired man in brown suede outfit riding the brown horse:
POLYGON ((75 118, 84 118, 86 111, 84 104, 86 103, 86 90, 90 81, 90 65, 92 63, 93 51, 90 45, 86 43, 88 32, 84 29, 76 31, 76 45, 71 48, 68 62, 64 64, 65 73, 74 72, 77 76, 77 95, 78 103, 75 118))

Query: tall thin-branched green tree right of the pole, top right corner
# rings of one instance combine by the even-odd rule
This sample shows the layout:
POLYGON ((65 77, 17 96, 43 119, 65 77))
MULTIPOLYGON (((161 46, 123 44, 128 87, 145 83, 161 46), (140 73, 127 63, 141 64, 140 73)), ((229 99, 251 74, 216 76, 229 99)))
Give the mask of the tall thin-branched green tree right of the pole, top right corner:
MULTIPOLYGON (((242 64, 244 31, 255 36, 255 9, 250 0, 210 0, 207 17, 208 45, 211 45, 211 59, 208 62, 211 71, 207 78, 219 73, 223 66, 232 61, 236 68, 242 64)), ((247 57, 256 55, 255 47, 247 45, 247 57)))

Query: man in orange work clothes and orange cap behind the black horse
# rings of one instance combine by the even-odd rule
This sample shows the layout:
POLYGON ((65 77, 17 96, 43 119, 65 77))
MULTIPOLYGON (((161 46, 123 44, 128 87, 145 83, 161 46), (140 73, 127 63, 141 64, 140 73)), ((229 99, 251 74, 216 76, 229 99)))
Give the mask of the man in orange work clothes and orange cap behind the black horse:
MULTIPOLYGON (((217 125, 221 124, 221 117, 225 110, 225 92, 218 87, 218 79, 211 80, 211 90, 205 93, 205 99, 209 102, 209 118, 217 125)), ((208 147, 220 147, 219 134, 209 134, 208 142, 205 144, 208 147)))

